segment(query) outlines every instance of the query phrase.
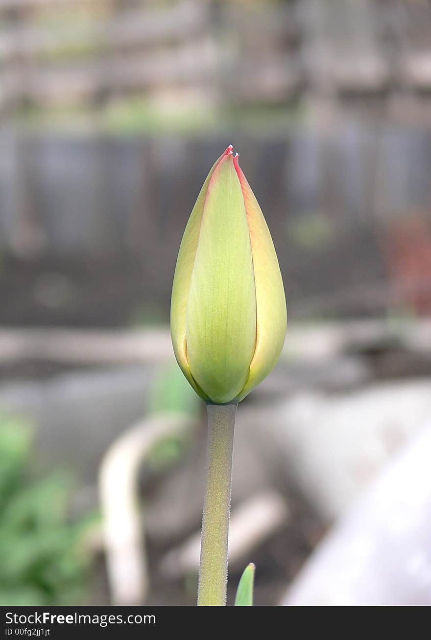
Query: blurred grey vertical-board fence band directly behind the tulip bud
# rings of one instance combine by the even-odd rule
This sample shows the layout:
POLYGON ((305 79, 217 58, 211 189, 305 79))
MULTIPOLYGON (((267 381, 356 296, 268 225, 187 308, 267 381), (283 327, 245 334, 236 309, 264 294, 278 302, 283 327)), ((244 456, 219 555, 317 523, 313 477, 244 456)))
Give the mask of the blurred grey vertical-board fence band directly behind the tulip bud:
MULTIPOLYGON (((393 299, 431 309, 431 132, 414 128, 345 124, 336 136, 304 129, 223 142, 3 131, 0 251, 30 274, 47 260, 54 273, 59 264, 81 269, 81 280, 98 273, 88 304, 99 294, 115 302, 109 287, 121 275, 116 286, 131 298, 165 305, 191 207, 230 141, 262 204, 290 299, 304 312, 393 299)), ((19 282, 4 280, 0 296, 19 294, 19 282)), ((56 282, 48 289, 56 298, 56 282)))

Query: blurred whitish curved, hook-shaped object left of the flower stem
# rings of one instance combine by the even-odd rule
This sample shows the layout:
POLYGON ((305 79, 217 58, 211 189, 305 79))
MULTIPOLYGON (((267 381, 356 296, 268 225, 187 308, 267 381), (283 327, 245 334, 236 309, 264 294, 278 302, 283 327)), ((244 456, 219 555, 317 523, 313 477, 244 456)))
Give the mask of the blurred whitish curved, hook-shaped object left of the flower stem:
POLYGON ((138 473, 145 456, 163 438, 195 426, 190 415, 158 415, 136 424, 113 442, 102 461, 99 492, 111 600, 139 605, 149 586, 139 505, 138 473))

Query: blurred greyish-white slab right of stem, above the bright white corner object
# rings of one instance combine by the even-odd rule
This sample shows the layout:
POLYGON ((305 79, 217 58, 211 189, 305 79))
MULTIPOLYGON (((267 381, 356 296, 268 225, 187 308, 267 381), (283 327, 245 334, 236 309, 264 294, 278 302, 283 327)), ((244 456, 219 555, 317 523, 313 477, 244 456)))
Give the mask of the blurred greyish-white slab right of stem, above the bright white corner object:
POLYGON ((430 415, 431 381, 412 380, 350 394, 298 394, 272 415, 238 412, 237 431, 242 420, 264 429, 263 447, 276 447, 283 467, 331 522, 430 415))

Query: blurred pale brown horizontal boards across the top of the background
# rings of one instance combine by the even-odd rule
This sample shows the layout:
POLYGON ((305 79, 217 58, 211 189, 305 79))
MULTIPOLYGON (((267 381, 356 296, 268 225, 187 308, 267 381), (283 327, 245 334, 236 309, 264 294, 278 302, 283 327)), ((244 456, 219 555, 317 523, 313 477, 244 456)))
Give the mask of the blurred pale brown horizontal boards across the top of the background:
POLYGON ((215 101, 384 100, 426 118, 430 43, 427 0, 1 0, 0 108, 168 88, 215 101))

